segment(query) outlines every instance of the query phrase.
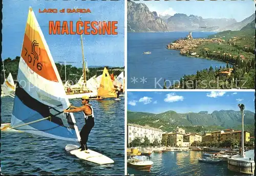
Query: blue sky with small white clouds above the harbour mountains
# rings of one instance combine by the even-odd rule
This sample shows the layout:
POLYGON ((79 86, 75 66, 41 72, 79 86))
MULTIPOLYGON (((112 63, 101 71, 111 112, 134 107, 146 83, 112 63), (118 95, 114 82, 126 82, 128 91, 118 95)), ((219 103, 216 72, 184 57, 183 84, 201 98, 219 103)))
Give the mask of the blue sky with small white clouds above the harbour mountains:
POLYGON ((254 92, 128 92, 127 110, 154 114, 212 113, 222 109, 240 111, 238 104, 244 104, 245 110, 255 112, 254 97, 254 92))

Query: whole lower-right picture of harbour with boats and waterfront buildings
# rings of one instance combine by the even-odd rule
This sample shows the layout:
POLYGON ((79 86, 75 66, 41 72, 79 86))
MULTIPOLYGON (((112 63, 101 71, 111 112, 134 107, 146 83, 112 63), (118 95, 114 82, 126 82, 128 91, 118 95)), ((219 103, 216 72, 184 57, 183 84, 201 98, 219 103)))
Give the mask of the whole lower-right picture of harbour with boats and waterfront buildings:
POLYGON ((254 175, 254 93, 129 92, 127 174, 254 175))

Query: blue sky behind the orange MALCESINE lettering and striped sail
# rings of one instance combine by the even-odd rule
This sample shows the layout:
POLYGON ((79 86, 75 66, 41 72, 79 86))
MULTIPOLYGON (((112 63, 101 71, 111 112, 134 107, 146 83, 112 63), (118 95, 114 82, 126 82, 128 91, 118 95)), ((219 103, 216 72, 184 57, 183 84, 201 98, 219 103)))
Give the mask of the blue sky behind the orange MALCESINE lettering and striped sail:
POLYGON ((83 35, 84 57, 88 65, 124 66, 124 1, 3 1, 2 58, 20 56, 32 7, 55 62, 69 61, 82 67, 80 35, 50 35, 49 20, 118 21, 118 35, 83 35), (39 9, 90 9, 91 13, 39 13, 39 9))

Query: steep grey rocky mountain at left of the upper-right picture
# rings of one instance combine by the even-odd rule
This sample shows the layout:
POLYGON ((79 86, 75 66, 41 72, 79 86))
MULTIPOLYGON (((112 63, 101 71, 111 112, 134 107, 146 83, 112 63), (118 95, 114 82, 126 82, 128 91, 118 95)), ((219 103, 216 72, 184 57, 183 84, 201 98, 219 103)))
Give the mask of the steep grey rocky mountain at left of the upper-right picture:
POLYGON ((157 13, 151 12, 145 4, 127 1, 127 31, 166 32, 168 28, 157 13))

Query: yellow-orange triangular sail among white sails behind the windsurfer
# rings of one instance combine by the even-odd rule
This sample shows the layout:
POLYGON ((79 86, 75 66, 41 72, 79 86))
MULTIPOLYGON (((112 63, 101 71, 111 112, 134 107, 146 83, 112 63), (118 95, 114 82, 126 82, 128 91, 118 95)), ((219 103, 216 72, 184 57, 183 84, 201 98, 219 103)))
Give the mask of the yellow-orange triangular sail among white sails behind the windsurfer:
POLYGON ((106 68, 104 68, 102 73, 101 82, 98 89, 98 96, 104 98, 111 98, 117 96, 110 74, 106 68))

